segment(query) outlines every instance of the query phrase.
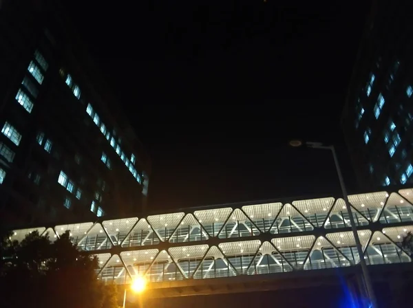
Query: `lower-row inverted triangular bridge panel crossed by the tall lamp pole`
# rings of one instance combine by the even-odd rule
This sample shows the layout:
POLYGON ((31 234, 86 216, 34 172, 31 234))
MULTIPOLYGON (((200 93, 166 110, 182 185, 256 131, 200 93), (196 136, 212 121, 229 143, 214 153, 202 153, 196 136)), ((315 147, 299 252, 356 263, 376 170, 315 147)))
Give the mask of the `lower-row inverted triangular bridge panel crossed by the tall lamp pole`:
MULTIPOLYGON (((365 251, 372 232, 370 230, 358 230, 357 234, 359 234, 361 248, 365 251)), ((360 262, 359 252, 357 251, 356 241, 352 231, 329 233, 326 234, 326 238, 343 256, 346 256, 352 265, 360 262)))

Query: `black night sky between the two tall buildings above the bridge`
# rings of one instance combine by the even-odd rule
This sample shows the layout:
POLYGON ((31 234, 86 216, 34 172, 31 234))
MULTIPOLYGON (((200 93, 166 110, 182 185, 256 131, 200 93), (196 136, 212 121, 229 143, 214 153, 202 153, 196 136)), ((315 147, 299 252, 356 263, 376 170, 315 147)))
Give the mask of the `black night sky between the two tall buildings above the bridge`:
POLYGON ((335 142, 354 187, 339 117, 368 3, 94 2, 72 8, 151 153, 151 208, 337 192, 292 137, 335 142))

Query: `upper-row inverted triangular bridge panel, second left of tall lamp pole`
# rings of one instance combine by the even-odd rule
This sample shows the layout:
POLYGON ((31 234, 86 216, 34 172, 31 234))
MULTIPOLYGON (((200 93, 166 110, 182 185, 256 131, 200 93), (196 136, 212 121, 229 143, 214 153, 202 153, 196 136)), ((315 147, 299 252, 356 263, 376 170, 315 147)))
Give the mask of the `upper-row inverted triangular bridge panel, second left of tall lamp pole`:
POLYGON ((282 203, 276 202, 243 206, 242 210, 261 232, 268 232, 281 208, 282 203))

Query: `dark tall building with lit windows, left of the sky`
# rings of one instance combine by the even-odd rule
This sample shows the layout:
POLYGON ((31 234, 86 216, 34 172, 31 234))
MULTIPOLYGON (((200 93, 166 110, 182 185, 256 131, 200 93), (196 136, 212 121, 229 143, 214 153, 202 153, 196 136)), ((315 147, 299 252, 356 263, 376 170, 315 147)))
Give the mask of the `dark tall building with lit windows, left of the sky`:
POLYGON ((115 217, 145 206, 150 159, 58 1, 0 7, 0 220, 115 217))

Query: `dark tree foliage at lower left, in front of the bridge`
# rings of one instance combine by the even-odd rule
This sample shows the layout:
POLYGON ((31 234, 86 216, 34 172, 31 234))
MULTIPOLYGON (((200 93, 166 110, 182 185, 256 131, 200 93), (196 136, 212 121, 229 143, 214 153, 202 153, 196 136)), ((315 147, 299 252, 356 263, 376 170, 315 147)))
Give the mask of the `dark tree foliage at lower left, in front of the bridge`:
POLYGON ((96 257, 81 252, 68 232, 52 242, 38 232, 21 243, 0 241, 0 307, 114 308, 115 286, 96 279, 96 257))

